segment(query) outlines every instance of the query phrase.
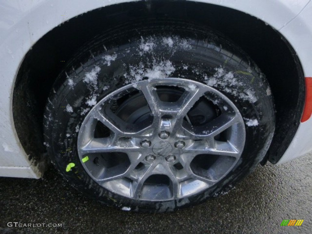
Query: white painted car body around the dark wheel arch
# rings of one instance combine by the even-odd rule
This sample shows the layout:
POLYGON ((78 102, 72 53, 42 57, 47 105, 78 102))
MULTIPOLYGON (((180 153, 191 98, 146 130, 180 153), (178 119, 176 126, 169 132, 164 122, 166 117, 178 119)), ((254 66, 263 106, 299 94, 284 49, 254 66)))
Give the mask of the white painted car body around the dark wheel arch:
MULTIPOLYGON (((124 0, 4 0, 0 3, 0 176, 40 178, 28 160, 16 134, 12 95, 18 69, 25 54, 42 36, 72 17, 124 0)), ((312 3, 310 0, 201 0, 255 16, 280 30, 297 51, 305 76, 312 76, 312 3), (309 14, 310 13, 310 14, 309 14), (299 14, 299 15, 298 15, 299 14)), ((290 147, 278 163, 312 150, 312 119, 301 123, 290 147), (300 143, 300 144, 299 144, 300 143)))

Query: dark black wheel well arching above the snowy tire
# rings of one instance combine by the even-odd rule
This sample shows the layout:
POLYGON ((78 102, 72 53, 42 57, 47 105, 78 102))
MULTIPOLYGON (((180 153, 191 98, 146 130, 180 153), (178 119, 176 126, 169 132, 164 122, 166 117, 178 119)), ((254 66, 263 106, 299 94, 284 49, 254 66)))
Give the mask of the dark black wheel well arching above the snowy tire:
POLYGON ((279 32, 255 17, 189 1, 140 1, 102 7, 72 18, 37 41, 22 62, 13 93, 14 124, 29 159, 37 163, 46 159, 43 112, 52 84, 66 61, 107 28, 150 17, 177 18, 211 27, 256 62, 271 85, 276 108, 275 135, 263 162, 269 159, 276 163, 297 131, 305 101, 304 75, 295 51, 279 32))

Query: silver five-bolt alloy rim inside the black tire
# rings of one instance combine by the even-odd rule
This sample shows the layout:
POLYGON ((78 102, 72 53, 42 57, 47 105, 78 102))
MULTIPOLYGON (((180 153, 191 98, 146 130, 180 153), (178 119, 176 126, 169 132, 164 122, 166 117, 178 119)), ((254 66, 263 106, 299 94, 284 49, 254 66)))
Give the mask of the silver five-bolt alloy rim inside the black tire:
POLYGON ((163 78, 125 85, 85 117, 77 149, 85 171, 135 200, 188 197, 236 165, 245 126, 236 106, 202 83, 163 78))

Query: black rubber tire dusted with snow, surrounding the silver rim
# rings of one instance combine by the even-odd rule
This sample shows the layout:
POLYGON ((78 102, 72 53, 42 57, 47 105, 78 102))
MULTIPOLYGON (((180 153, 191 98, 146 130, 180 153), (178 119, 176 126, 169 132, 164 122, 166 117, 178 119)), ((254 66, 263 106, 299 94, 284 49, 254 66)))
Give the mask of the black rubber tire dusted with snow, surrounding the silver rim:
POLYGON ((84 46, 57 77, 44 115, 45 145, 59 172, 88 196, 120 209, 173 211, 229 191, 261 162, 275 128, 269 90, 254 62, 216 32, 174 20, 131 22, 84 46), (153 48, 140 49, 142 41, 152 41, 153 48), (170 201, 137 201, 101 187, 85 172, 77 153, 78 131, 95 101, 133 80, 131 66, 146 69, 167 61, 174 67, 167 76, 205 83, 232 100, 245 119, 246 143, 232 171, 202 193, 170 201), (85 73, 92 71, 98 76, 97 81, 84 82, 85 73), (66 171, 69 163, 74 166, 66 171))

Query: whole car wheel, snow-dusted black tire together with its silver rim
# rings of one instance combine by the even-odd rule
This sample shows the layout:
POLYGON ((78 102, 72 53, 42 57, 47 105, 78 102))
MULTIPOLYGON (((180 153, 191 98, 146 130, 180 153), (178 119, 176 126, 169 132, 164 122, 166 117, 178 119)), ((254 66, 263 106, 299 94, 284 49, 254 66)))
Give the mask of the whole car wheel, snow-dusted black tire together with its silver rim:
POLYGON ((217 197, 255 169, 274 132, 270 87, 234 43, 174 20, 132 22, 85 45, 44 115, 52 163, 122 210, 217 197))

